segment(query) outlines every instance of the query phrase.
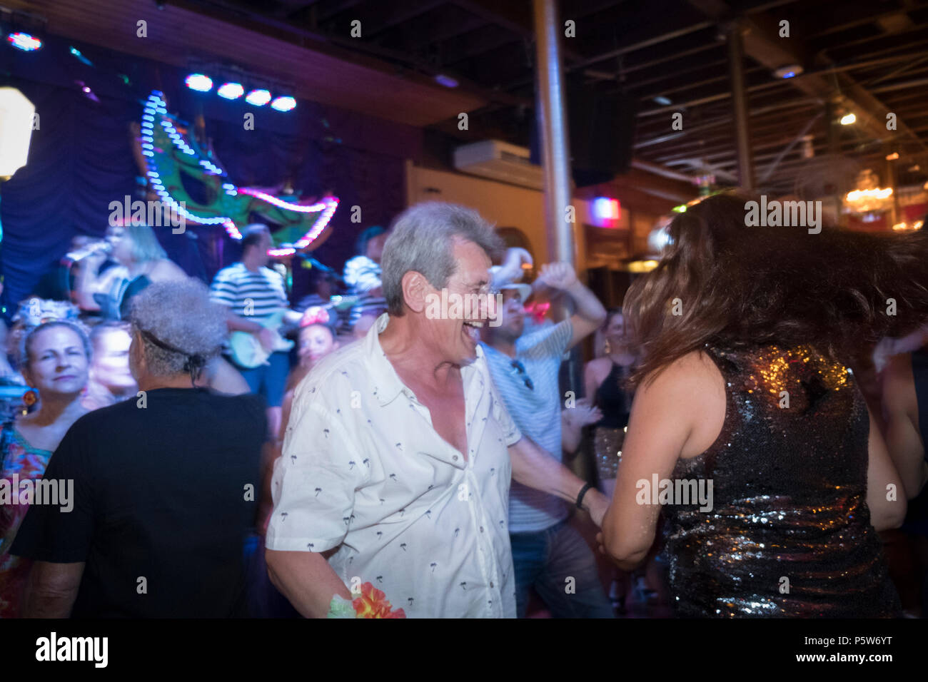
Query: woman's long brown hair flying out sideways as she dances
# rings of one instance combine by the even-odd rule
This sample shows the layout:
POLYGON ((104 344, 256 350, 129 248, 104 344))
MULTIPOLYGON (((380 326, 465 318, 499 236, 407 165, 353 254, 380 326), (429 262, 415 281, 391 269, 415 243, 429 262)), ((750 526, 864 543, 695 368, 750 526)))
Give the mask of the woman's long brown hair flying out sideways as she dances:
POLYGON ((659 264, 625 294, 642 354, 633 383, 705 343, 809 343, 847 363, 928 320, 928 231, 747 226, 745 204, 757 199, 716 195, 670 224, 659 264))

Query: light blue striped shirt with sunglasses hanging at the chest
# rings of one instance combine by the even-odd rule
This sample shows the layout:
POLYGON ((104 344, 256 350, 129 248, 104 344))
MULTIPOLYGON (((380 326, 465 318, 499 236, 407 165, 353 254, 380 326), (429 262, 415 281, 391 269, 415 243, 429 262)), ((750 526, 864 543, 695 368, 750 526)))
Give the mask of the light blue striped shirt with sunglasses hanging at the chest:
MULTIPOLYGON (((559 462, 561 451, 561 386, 559 370, 564 352, 574 336, 570 319, 557 325, 529 330, 516 341, 515 360, 486 344, 483 353, 512 420, 540 447, 559 462), (530 389, 526 379, 531 381, 530 389)), ((567 517, 567 504, 554 495, 512 482, 509 491, 509 533, 535 533, 567 517)))

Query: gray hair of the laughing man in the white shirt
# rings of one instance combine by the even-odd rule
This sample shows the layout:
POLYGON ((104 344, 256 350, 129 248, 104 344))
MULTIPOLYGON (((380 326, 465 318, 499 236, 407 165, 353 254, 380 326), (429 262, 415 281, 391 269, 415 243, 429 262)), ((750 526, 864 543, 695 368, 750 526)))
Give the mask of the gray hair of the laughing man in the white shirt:
POLYGON ((403 276, 421 273, 435 289, 444 289, 458 264, 454 239, 472 241, 493 259, 503 250, 503 238, 480 213, 443 201, 426 201, 400 213, 383 247, 383 297, 391 315, 403 315, 403 276))

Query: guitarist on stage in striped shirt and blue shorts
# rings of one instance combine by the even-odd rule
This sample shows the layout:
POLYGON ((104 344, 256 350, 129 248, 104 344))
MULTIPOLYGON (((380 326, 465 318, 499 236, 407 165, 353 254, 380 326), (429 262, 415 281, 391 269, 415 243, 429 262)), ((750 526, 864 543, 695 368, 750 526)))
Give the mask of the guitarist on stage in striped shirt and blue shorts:
MULTIPOLYGON (((267 251, 271 245, 271 233, 267 225, 246 227, 241 239, 241 261, 217 272, 210 288, 210 299, 229 309, 229 331, 254 334, 265 351, 274 348, 277 337, 274 329, 264 327, 264 321, 290 306, 284 278, 267 267, 270 260, 267 251)), ((286 319, 294 321, 299 316, 289 311, 286 319)), ((234 360, 229 360, 236 365, 234 360)), ((290 372, 290 354, 277 351, 267 358, 265 365, 252 369, 236 367, 248 382, 251 392, 264 396, 268 429, 273 437, 277 437, 280 405, 290 372)))

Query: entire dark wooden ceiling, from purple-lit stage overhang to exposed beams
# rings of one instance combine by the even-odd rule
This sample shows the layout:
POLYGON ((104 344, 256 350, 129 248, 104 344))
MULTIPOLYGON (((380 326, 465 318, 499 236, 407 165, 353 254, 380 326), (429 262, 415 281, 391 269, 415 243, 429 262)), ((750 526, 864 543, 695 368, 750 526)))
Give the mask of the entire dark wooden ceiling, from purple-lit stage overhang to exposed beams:
MULTIPOLYGON (((0 4, 45 16, 49 32, 131 54, 177 65, 223 58, 289 79, 300 97, 462 141, 528 143, 535 101, 529 0, 0 4), (135 37, 138 19, 148 21, 147 39, 135 37), (361 37, 351 36, 354 20, 361 37), (436 84, 439 74, 459 86, 436 84), (461 111, 470 112, 469 131, 458 130, 461 111)), ((568 73, 637 102, 638 167, 735 182, 725 32, 737 19, 762 189, 793 191, 836 168, 880 171, 893 151, 903 182, 928 179, 926 0, 561 0, 560 6, 561 18, 576 25, 576 37, 563 41, 568 73), (783 20, 788 38, 780 36, 783 20), (803 75, 774 75, 793 63, 803 75), (852 111, 857 124, 835 124, 852 111), (676 112, 683 114, 682 130, 671 126, 676 112), (890 112, 895 131, 885 126, 890 112)))

